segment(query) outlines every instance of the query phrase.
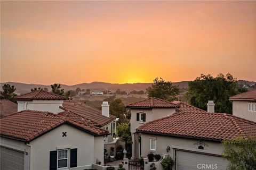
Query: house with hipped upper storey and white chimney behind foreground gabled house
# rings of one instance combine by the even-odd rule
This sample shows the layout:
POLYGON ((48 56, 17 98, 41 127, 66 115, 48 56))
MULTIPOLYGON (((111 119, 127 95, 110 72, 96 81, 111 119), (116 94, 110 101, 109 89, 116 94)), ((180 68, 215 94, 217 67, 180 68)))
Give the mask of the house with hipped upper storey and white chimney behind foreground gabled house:
POLYGON ((102 111, 92 106, 86 105, 79 100, 66 100, 66 97, 52 94, 43 90, 36 90, 17 96, 14 98, 18 103, 18 112, 27 109, 32 111, 44 111, 60 114, 66 117, 73 117, 76 121, 97 124, 99 128, 110 131, 110 136, 106 137, 106 142, 111 142, 116 133, 116 122, 118 118, 109 114, 109 105, 103 101, 102 111), (76 116, 74 116, 74 114, 76 116))

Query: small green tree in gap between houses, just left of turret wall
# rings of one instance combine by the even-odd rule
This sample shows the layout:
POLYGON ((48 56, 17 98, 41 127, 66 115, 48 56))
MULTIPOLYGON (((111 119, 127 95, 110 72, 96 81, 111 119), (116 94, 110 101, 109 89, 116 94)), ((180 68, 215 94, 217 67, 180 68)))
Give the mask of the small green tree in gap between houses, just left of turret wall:
POLYGON ((132 144, 131 127, 128 123, 121 123, 117 126, 118 137, 125 143, 125 149, 129 151, 128 145, 132 144))

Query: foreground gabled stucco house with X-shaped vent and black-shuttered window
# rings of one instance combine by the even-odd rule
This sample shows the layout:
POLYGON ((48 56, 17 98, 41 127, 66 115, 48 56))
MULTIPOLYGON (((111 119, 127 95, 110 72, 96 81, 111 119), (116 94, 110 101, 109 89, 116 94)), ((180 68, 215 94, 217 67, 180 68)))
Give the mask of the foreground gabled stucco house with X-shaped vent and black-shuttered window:
POLYGON ((103 163, 107 130, 42 111, 1 118, 1 169, 86 169, 103 163), (88 147, 90 146, 90 147, 88 147))

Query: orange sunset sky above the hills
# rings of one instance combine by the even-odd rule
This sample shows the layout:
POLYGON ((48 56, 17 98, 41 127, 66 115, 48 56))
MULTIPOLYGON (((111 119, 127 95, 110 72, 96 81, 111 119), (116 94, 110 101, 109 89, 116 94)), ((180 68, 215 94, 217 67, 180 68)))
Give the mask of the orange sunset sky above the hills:
POLYGON ((1 82, 256 81, 255 1, 1 1, 1 82))

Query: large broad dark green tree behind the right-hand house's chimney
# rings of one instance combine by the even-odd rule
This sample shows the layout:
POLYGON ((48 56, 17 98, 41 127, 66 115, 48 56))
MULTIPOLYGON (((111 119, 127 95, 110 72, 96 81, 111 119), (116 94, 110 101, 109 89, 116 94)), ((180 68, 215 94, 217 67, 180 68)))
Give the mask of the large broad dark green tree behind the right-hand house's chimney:
POLYGON ((208 100, 213 100, 215 112, 231 113, 232 103, 229 97, 237 93, 237 81, 230 73, 226 76, 218 74, 215 78, 211 74, 201 74, 196 80, 188 82, 185 98, 189 104, 205 111, 208 100))

